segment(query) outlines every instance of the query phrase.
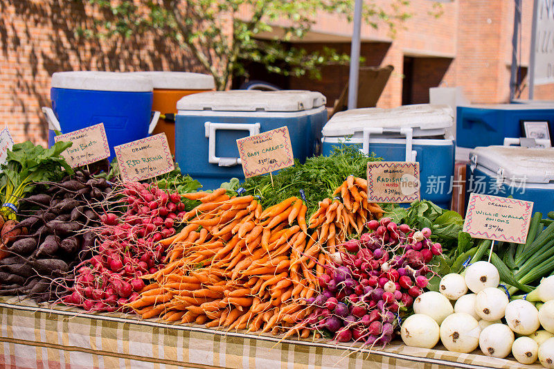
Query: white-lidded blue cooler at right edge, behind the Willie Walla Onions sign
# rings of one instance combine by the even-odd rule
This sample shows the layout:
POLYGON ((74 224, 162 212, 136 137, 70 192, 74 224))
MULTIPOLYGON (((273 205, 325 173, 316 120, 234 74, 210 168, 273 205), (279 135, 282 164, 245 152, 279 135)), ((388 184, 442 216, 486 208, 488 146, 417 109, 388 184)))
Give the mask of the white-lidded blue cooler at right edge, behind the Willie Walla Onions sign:
POLYGON ((466 169, 470 193, 533 201, 533 212, 554 210, 554 148, 475 147, 466 169))

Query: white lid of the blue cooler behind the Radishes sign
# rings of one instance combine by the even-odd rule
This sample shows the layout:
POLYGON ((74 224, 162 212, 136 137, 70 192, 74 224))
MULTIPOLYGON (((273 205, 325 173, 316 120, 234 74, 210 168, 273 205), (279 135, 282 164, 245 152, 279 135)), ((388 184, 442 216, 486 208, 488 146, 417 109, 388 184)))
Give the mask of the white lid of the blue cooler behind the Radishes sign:
POLYGON ((364 128, 413 128, 413 136, 445 134, 454 121, 448 105, 404 105, 393 109, 352 109, 334 114, 323 127, 323 136, 347 136, 364 128))

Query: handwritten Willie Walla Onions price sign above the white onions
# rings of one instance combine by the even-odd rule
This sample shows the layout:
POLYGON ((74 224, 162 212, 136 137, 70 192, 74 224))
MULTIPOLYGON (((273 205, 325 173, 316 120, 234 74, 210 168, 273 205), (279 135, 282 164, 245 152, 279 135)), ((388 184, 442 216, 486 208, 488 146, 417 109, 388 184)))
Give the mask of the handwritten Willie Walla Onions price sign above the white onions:
POLYGON ((531 210, 531 201, 472 193, 463 231, 475 238, 524 244, 531 210))

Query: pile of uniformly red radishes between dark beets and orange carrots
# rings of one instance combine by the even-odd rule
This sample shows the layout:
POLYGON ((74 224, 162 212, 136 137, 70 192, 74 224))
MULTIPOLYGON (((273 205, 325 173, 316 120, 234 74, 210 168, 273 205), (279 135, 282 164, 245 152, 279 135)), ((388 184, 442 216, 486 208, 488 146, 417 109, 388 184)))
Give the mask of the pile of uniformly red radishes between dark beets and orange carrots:
POLYGON ((176 219, 184 212, 181 197, 154 184, 123 186, 112 192, 118 201, 111 208, 125 204, 127 210, 100 216, 103 225, 94 230, 98 254, 75 268, 75 285, 63 300, 67 305, 96 312, 124 310, 145 287, 141 276, 163 264, 166 249, 158 242, 175 234, 176 219))

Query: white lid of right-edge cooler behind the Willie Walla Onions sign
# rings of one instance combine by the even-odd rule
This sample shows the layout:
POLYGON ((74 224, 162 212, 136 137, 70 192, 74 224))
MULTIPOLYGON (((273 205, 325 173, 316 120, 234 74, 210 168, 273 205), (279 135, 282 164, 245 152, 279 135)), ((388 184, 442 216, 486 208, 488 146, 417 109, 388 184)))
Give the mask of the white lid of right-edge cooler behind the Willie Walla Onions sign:
POLYGON ((554 148, 529 148, 519 146, 475 147, 470 152, 470 163, 497 173, 510 181, 526 178, 528 183, 554 181, 554 148))

